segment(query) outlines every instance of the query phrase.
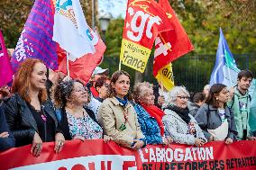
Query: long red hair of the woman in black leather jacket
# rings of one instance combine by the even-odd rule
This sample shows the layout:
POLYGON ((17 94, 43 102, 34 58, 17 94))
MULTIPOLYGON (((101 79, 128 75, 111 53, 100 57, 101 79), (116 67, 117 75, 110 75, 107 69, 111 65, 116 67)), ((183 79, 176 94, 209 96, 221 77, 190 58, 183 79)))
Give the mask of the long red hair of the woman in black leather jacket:
MULTIPOLYGON (((29 97, 29 89, 31 89, 31 74, 33 67, 36 63, 42 63, 41 59, 27 58, 23 61, 14 77, 12 92, 18 93, 22 96, 23 100, 31 103, 29 97)), ((46 88, 39 92, 38 99, 41 103, 47 100, 46 88)))

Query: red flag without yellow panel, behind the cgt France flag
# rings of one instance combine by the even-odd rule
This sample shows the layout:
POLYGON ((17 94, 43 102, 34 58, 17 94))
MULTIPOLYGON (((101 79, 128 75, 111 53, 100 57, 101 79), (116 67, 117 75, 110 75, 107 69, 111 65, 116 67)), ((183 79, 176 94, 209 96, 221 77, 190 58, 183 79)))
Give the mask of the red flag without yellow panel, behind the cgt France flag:
POLYGON ((161 32, 156 39, 153 65, 154 76, 158 75, 162 67, 167 66, 170 62, 194 49, 187 37, 186 31, 180 22, 178 22, 175 12, 169 5, 169 1, 159 0, 159 4, 166 11, 171 22, 171 28, 174 29, 161 32))

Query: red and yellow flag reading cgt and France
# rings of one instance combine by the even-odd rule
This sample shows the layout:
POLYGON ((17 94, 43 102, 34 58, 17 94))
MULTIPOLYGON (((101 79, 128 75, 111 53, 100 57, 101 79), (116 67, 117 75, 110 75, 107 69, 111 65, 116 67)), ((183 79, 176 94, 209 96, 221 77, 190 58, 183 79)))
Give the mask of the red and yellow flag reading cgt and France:
POLYGON ((143 73, 157 35, 171 29, 168 15, 158 3, 129 0, 120 53, 123 65, 143 73))

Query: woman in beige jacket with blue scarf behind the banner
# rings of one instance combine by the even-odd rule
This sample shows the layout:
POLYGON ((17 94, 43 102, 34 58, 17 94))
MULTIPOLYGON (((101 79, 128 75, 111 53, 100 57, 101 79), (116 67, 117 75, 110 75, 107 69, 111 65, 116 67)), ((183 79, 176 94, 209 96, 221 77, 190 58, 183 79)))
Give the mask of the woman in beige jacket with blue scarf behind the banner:
POLYGON ((137 120, 132 103, 128 101, 130 76, 125 71, 115 71, 111 77, 110 96, 101 104, 97 119, 106 135, 123 147, 139 149, 146 140, 137 120))

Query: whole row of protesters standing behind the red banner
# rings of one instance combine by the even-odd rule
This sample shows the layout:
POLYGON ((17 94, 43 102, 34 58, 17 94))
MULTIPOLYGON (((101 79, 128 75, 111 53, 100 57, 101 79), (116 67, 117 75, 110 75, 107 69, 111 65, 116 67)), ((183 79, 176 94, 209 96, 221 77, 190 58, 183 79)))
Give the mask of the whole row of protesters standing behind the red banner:
POLYGON ((255 140, 256 106, 248 94, 252 77, 242 70, 233 89, 206 85, 194 96, 184 86, 167 92, 147 82, 132 92, 130 76, 122 70, 109 78, 107 69, 96 67, 84 85, 69 77, 52 80, 41 60, 28 58, 12 89, 0 89, 0 150, 32 144, 38 157, 43 142, 55 141, 59 153, 72 139, 113 140, 132 149, 255 140))

